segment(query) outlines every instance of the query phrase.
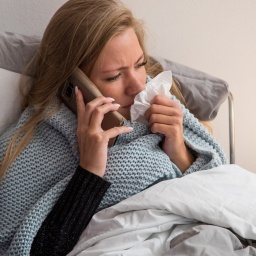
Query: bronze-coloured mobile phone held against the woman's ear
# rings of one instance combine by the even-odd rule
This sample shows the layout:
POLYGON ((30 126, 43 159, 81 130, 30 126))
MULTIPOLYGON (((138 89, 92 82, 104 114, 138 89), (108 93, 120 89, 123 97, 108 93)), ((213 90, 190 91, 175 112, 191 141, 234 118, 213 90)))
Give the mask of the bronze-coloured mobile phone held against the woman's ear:
MULTIPOLYGON (((63 103, 75 114, 77 114, 75 87, 82 92, 85 104, 92 101, 96 97, 102 96, 96 85, 77 68, 70 78, 63 84, 60 89, 59 96, 63 103)), ((121 126, 125 118, 117 111, 111 111, 105 114, 101 127, 103 130, 121 126)), ((115 144, 116 138, 110 139, 108 146, 115 144)))

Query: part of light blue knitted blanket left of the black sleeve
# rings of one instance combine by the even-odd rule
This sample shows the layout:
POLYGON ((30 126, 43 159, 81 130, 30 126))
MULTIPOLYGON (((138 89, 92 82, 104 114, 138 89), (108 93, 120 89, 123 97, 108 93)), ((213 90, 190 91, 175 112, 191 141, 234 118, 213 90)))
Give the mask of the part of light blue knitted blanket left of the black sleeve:
MULTIPOLYGON (((27 108, 16 127, 31 114, 27 108)), ((29 255, 42 221, 78 165, 75 127, 75 116, 61 108, 38 125, 32 142, 9 168, 0 185, 0 255, 29 255)), ((1 136, 0 160, 15 130, 1 136)))

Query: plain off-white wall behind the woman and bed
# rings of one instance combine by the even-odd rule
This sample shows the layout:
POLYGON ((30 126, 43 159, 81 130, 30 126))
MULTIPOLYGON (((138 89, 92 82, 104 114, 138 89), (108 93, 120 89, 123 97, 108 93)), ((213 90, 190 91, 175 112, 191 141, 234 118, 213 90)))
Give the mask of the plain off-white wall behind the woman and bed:
MULTIPOLYGON (((0 0, 0 30, 41 35, 64 0, 0 0)), ((145 20, 152 55, 226 80, 235 98, 236 163, 256 170, 256 1, 123 0, 145 20)), ((213 122, 228 154, 227 103, 213 122)))

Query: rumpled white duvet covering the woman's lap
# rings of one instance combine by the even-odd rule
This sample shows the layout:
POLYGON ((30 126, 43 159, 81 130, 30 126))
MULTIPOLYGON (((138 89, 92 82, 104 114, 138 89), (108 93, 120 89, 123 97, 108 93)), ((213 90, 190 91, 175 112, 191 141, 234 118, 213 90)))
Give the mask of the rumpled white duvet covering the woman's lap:
POLYGON ((256 240, 256 174, 222 165, 160 182, 98 212, 68 255, 168 255, 198 222, 256 240))

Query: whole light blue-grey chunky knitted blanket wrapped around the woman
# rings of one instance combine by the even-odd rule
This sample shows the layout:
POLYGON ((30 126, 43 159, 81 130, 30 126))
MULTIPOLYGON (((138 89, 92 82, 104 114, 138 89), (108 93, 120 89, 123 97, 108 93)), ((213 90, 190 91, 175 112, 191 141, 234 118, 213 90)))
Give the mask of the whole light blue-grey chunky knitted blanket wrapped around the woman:
MULTIPOLYGON (((184 106, 182 110, 185 142, 198 154, 184 175, 225 164, 217 141, 184 106)), ((32 112, 27 108, 1 135, 0 160, 13 133, 32 112)), ((162 135, 152 134, 141 123, 126 121, 125 125, 134 130, 120 135, 108 150, 104 178, 112 185, 98 210, 183 175, 159 147, 162 135)), ((62 105, 58 113, 38 124, 31 143, 10 166, 0 185, 0 255, 29 255, 34 236, 79 163, 76 127, 75 115, 62 105)))

